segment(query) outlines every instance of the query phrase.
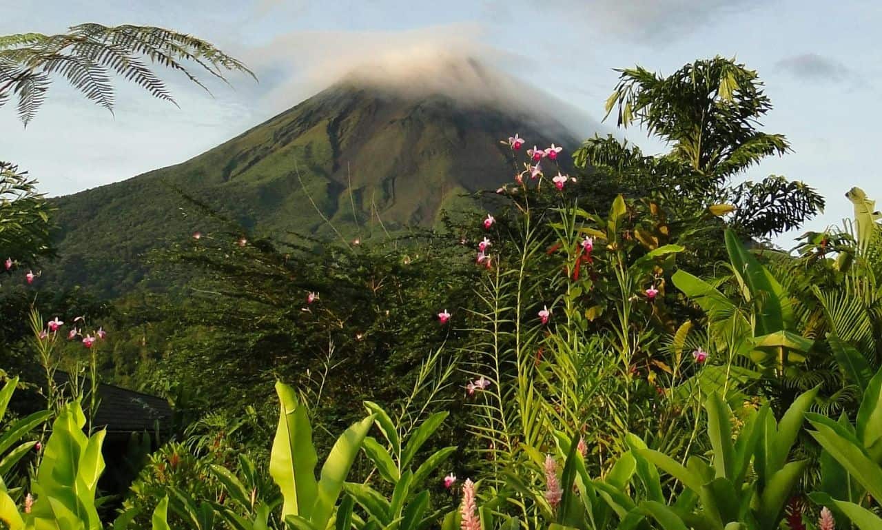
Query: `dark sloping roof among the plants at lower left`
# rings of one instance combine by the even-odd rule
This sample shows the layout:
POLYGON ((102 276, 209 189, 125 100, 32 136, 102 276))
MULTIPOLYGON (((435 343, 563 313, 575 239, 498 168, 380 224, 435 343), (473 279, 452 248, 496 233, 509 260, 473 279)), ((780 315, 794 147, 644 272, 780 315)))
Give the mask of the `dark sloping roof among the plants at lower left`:
MULTIPOLYGON (((56 371, 55 379, 58 384, 66 384, 71 377, 56 371)), ((171 426, 172 411, 165 399, 104 383, 98 384, 98 395, 101 403, 93 426, 107 428, 108 434, 168 431, 171 426)))

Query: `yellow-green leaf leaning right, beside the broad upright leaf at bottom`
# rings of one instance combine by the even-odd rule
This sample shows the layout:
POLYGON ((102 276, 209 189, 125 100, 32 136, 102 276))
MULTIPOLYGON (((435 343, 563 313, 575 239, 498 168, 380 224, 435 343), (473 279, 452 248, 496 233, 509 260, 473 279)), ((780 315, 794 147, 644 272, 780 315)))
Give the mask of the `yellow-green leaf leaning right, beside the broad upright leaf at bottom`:
POLYGON ((337 497, 343 489, 343 482, 349 474, 349 468, 355 461, 355 456, 361 450, 364 437, 367 436, 370 426, 373 424, 375 415, 370 414, 361 422, 354 423, 349 429, 337 438, 333 444, 325 465, 322 466, 321 478, 318 480, 318 495, 315 507, 310 514, 310 522, 325 528, 328 519, 331 519, 337 497))

